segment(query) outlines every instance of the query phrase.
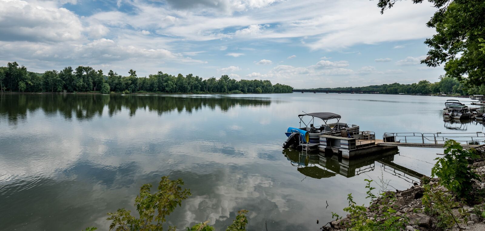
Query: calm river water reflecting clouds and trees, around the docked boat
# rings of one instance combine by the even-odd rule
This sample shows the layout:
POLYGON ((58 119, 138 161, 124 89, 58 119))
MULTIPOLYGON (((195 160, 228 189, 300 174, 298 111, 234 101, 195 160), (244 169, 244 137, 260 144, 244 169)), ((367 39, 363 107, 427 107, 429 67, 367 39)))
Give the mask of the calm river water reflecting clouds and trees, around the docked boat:
POLYGON ((140 186, 170 175, 192 192, 168 218, 178 229, 209 220, 222 230, 247 209, 248 230, 263 230, 266 221, 268 230, 318 231, 330 212, 344 215, 348 193, 368 202, 364 179, 374 180, 376 192, 408 188, 417 179, 400 170, 429 175, 442 149, 399 148, 396 155, 353 161, 304 157, 281 148, 297 115, 337 113, 377 137, 484 130, 476 122, 443 121, 447 99, 0 94, 0 230, 105 231, 106 213, 135 211, 140 186))

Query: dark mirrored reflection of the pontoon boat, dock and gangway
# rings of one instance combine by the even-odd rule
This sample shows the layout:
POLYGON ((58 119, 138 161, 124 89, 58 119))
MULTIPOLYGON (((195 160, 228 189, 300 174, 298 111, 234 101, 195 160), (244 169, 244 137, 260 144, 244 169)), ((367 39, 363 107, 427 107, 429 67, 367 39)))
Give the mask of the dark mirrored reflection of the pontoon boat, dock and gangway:
POLYGON ((315 179, 343 175, 347 178, 375 170, 375 162, 383 165, 383 171, 404 179, 409 183, 419 183, 423 174, 394 163, 396 150, 358 159, 346 159, 339 155, 305 154, 291 149, 283 150, 283 155, 296 166, 298 172, 315 179))

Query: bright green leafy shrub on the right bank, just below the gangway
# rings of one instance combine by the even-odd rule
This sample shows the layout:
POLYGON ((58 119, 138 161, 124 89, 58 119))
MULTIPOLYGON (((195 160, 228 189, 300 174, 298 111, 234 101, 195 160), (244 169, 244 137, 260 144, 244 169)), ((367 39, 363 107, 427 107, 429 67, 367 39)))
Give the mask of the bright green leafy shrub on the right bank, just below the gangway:
POLYGON ((471 169, 468 161, 478 158, 478 155, 474 149, 464 150, 454 140, 446 141, 444 147, 445 155, 436 158, 438 161, 431 169, 431 176, 438 177, 439 183, 456 193, 458 198, 469 200, 473 180, 479 179, 479 175, 471 169))

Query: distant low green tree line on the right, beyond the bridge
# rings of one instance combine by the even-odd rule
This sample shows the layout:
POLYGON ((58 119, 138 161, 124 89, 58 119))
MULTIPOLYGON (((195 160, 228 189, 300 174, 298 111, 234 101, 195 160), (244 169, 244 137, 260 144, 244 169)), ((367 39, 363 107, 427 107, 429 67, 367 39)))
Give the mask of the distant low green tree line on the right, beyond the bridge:
POLYGON ((444 75, 439 77, 439 82, 431 83, 428 80, 421 80, 414 84, 383 84, 367 87, 335 87, 335 88, 314 88, 311 90, 342 90, 342 91, 374 91, 380 94, 459 94, 459 95, 484 95, 485 85, 470 86, 466 82, 458 81, 453 77, 444 75))

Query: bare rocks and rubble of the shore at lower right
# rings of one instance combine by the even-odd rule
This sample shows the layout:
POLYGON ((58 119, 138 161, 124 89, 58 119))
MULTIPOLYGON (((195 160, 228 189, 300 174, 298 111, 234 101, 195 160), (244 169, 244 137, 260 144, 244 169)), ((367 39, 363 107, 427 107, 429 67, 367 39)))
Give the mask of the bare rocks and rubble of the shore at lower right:
MULTIPOLYGON (((385 195, 392 195, 389 199, 386 196, 379 197, 372 201, 372 204, 366 208, 365 216, 372 221, 382 221, 386 219, 385 213, 387 208, 392 208, 395 213, 392 216, 398 217, 399 220, 408 219, 406 231, 439 231, 439 230, 470 230, 485 231, 485 160, 479 159, 471 164, 475 173, 479 174, 481 179, 475 181, 473 190, 470 195, 474 195, 473 202, 466 204, 453 198, 453 206, 450 212, 453 213, 453 227, 442 228, 440 224, 442 217, 440 214, 432 213, 423 204, 425 194, 424 185, 430 185, 435 191, 446 193, 446 188, 438 185, 438 179, 423 177, 420 185, 416 184, 411 188, 402 191, 386 192, 385 195), (382 220, 379 220, 382 219, 382 220), (459 224, 456 225, 456 223, 459 224)), ((448 202, 447 202, 448 203, 448 202)), ((434 203, 432 203, 434 205, 434 203)), ((344 231, 351 225, 351 215, 330 222, 330 227, 322 227, 327 231, 344 231)))

